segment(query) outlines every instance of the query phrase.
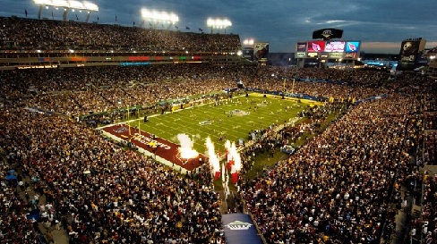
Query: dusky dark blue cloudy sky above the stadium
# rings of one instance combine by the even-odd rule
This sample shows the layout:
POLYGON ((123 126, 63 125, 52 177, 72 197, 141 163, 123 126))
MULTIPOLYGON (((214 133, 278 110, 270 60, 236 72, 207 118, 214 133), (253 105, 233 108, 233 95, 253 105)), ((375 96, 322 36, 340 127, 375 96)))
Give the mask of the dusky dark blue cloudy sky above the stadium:
MULTIPOLYGON (((397 54, 405 38, 424 38, 426 47, 437 46, 436 0, 90 0, 99 5, 90 21, 132 26, 141 24, 141 8, 179 16, 181 31, 210 33, 209 17, 232 21, 227 33, 270 42, 270 52, 294 52, 296 42, 312 38, 313 30, 344 29, 343 38, 361 40, 362 51, 397 54), (116 22, 117 16, 117 22, 116 22), (185 26, 190 27, 186 30, 185 26)), ((39 6, 32 0, 0 0, 1 16, 37 18, 39 6)), ((44 8, 42 17, 62 20, 63 10, 44 8)), ((86 13, 70 12, 69 20, 85 21, 86 13)), ((149 27, 146 24, 145 27, 149 27)), ((162 28, 159 25, 159 28, 162 28)), ((172 28, 174 29, 174 28, 172 28)), ((217 30, 214 30, 216 33, 217 30)), ((224 33, 224 30, 219 30, 224 33)))

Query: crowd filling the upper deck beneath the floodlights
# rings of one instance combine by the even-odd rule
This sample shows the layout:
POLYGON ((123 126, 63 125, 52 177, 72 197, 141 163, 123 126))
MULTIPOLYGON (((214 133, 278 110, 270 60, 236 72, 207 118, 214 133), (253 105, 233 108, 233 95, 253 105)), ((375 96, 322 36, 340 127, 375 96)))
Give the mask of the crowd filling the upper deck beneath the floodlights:
MULTIPOLYGON (((149 27, 149 26, 148 26, 149 27)), ((0 18, 0 50, 137 50, 236 52, 238 35, 204 34, 119 25, 0 18)))

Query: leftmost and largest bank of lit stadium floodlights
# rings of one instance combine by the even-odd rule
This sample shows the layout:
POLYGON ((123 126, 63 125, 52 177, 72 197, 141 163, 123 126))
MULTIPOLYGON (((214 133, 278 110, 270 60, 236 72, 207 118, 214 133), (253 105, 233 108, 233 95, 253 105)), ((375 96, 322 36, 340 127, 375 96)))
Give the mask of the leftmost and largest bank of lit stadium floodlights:
POLYGON ((33 3, 39 4, 38 19, 41 19, 41 12, 44 6, 62 7, 64 8, 63 20, 67 21, 67 13, 70 9, 88 11, 87 22, 90 20, 90 14, 92 11, 99 11, 97 4, 90 3, 88 1, 76 1, 76 0, 33 0, 33 3))

